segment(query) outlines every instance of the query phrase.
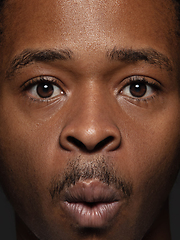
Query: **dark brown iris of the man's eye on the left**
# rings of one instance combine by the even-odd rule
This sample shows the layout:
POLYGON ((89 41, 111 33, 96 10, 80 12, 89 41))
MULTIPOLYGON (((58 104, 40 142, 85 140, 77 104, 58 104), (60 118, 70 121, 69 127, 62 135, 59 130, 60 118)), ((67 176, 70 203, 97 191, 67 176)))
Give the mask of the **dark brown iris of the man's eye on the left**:
POLYGON ((49 98, 54 92, 54 87, 51 83, 40 83, 37 86, 37 94, 41 98, 49 98))

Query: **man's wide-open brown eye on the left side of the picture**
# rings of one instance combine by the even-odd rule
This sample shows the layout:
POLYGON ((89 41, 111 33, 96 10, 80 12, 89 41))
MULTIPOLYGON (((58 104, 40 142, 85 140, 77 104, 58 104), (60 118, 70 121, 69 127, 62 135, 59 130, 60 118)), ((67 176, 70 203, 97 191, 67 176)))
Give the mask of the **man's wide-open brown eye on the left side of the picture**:
POLYGON ((24 86, 27 94, 33 99, 52 99, 59 95, 64 95, 64 91, 56 84, 52 78, 32 79, 24 86))

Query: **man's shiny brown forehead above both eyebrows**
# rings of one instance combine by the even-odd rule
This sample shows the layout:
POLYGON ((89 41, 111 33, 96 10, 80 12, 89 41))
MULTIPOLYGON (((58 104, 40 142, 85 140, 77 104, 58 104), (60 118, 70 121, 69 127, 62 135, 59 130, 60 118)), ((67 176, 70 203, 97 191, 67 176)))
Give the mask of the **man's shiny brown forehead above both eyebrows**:
MULTIPOLYGON (((5 8, 5 51, 65 48, 94 54, 148 48, 172 54, 176 15, 170 0, 9 0, 5 8)), ((176 42, 174 42, 176 44, 176 42)))

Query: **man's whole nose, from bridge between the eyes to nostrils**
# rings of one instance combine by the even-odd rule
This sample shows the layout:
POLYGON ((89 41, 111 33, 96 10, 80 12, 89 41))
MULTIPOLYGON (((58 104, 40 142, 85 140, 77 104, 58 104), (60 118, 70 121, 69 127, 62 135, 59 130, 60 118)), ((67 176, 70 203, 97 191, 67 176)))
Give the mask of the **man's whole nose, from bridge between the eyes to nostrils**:
POLYGON ((68 150, 113 150, 120 142, 119 129, 111 118, 105 90, 96 84, 86 85, 76 96, 71 119, 61 132, 61 146, 68 150))

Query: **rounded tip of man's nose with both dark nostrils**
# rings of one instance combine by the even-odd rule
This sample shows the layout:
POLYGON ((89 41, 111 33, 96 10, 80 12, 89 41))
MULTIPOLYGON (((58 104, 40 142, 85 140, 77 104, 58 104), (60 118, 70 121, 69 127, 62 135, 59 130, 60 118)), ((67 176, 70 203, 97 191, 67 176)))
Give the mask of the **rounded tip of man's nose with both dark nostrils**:
POLYGON ((73 151, 86 152, 106 150, 113 151, 120 145, 121 137, 119 129, 109 124, 98 124, 96 127, 80 125, 67 125, 60 135, 62 148, 73 151))

